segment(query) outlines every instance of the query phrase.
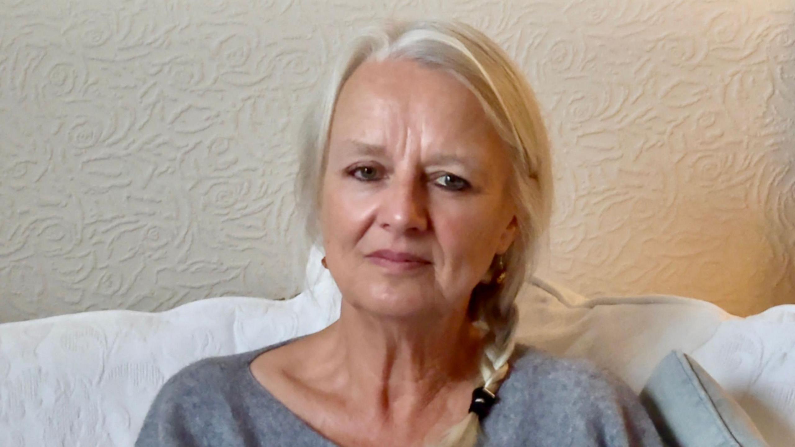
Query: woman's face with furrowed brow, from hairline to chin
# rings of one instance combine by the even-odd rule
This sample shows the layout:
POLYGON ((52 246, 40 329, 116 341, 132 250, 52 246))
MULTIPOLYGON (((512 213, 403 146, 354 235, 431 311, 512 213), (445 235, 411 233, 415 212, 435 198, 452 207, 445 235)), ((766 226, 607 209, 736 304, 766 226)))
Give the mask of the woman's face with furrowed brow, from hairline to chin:
POLYGON ((392 317, 465 309, 514 239, 510 169, 455 77, 410 60, 360 65, 335 106, 321 195, 344 299, 392 317))

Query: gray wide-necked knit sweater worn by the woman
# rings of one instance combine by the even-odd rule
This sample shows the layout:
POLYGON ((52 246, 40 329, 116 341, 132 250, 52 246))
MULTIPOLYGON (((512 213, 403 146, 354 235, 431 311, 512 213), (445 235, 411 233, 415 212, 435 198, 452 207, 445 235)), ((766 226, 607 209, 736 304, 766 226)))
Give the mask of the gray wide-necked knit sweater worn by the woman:
MULTIPOLYGON (((251 374, 268 349, 200 360, 157 394, 136 447, 333 446, 251 374)), ((498 401, 483 419, 483 446, 653 445, 660 438, 626 384, 584 360, 519 345, 498 401)))

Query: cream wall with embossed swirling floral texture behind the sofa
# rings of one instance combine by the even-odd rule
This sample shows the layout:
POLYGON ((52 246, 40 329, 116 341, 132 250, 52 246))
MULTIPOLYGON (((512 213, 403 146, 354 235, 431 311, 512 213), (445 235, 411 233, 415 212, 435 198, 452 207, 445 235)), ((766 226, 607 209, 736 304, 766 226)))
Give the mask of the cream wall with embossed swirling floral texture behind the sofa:
POLYGON ((582 293, 795 302, 793 0, 0 0, 0 321, 287 297, 289 139, 373 18, 456 17, 524 68, 582 293))

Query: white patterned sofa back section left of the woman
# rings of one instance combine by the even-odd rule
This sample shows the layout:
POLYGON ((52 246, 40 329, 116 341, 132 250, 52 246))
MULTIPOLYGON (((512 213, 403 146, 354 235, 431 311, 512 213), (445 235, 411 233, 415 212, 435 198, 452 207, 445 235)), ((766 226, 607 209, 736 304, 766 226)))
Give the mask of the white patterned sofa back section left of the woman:
POLYGON ((288 301, 219 297, 161 313, 0 325, 0 446, 133 445, 157 390, 181 367, 335 321, 339 291, 330 277, 320 280, 321 270, 309 268, 314 288, 288 301))

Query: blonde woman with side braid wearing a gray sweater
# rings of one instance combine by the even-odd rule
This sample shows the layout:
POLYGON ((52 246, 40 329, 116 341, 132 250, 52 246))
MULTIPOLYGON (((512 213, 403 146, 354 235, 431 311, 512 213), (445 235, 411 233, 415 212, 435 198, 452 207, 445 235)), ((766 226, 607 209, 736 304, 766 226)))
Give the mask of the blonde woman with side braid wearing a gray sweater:
POLYGON ((537 103, 494 42, 371 29, 301 131, 339 321, 185 367, 138 447, 661 445, 618 379, 514 344, 553 193, 537 103))

